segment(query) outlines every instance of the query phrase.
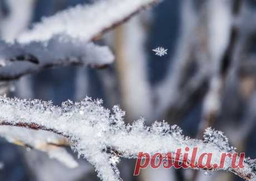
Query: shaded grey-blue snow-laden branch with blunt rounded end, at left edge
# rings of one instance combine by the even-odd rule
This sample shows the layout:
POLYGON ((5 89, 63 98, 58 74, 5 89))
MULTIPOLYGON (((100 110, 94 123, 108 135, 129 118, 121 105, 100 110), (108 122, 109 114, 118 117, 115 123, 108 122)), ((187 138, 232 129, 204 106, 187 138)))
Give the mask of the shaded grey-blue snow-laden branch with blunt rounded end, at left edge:
POLYGON ((98 46, 66 35, 47 42, 8 44, 0 42, 0 80, 12 80, 45 68, 67 65, 101 67, 114 61, 106 46, 98 46))

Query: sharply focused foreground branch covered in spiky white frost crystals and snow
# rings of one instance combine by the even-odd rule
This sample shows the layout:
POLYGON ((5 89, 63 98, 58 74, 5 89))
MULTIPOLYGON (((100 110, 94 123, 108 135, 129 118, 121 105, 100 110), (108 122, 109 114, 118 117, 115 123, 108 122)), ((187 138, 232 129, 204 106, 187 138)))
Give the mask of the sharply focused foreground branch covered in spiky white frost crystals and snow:
MULTIPOLYGON (((124 111, 114 106, 111 112, 101 104, 101 100, 93 101, 89 97, 81 102, 63 102, 62 107, 40 100, 0 97, 0 125, 45 130, 67 137, 78 156, 93 164, 99 177, 106 181, 120 180, 119 171, 112 162, 116 157, 136 158, 139 152, 167 153, 188 146, 198 147, 198 155, 213 153, 212 161, 220 163, 221 153, 235 152, 220 131, 208 128, 202 141, 184 137, 178 126, 166 122, 155 122, 147 127, 141 118, 125 125, 124 111)), ((243 169, 233 169, 231 160, 226 159, 224 170, 245 180, 254 180, 255 165, 254 160, 247 158, 243 169)))

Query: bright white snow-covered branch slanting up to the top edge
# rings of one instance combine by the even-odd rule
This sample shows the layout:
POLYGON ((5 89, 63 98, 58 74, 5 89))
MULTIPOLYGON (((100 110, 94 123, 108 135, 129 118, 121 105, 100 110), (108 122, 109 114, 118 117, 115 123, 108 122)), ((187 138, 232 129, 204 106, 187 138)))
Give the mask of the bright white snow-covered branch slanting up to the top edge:
POLYGON ((32 30, 24 32, 18 42, 45 41, 53 35, 63 33, 72 38, 90 41, 157 2, 160 0, 107 0, 97 1, 92 5, 78 5, 44 18, 32 30))

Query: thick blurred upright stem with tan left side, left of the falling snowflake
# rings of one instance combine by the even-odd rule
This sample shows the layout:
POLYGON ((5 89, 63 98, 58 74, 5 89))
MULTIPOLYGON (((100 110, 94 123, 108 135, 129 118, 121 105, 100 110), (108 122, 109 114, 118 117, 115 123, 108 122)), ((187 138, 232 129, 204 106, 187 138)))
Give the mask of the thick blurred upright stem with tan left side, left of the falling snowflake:
POLYGON ((137 15, 116 30, 116 70, 119 75, 122 105, 131 112, 129 120, 151 118, 151 87, 147 80, 145 54, 146 29, 142 15, 137 15), (140 99, 138 99, 140 97, 140 99))

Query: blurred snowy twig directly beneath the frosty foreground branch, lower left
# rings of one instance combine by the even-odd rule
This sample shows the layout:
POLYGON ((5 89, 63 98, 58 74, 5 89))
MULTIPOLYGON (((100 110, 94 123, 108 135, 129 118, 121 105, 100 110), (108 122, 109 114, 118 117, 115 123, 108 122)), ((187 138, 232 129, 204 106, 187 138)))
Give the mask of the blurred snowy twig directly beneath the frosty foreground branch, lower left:
POLYGON ((78 166, 72 154, 67 152, 67 146, 72 144, 67 138, 50 131, 26 129, 28 127, 32 128, 32 126, 26 128, 23 126, 1 126, 0 136, 5 138, 9 143, 25 147, 29 150, 35 149, 45 152, 50 158, 56 159, 68 168, 76 168, 78 166))

